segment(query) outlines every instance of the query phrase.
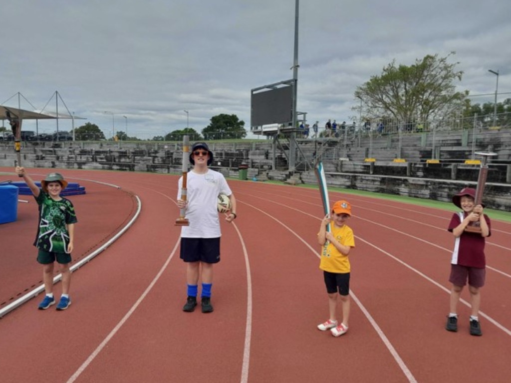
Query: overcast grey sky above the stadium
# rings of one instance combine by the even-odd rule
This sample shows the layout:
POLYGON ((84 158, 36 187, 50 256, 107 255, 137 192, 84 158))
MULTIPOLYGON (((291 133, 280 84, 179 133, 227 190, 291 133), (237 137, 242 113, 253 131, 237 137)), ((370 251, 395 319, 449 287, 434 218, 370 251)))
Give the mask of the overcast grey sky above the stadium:
MULTIPOLYGON (((292 79, 295 0, 3 2, 0 103, 59 113, 149 139, 212 116, 250 128, 250 89, 292 79), (13 97, 14 96, 14 97, 13 97), (30 102, 30 104, 25 100, 30 102), (64 105, 65 103, 65 105, 64 105), (109 114, 105 114, 108 111, 109 114), (125 119, 123 116, 126 116, 125 119)), ((354 91, 396 59, 459 61, 476 103, 511 97, 509 0, 301 0, 298 110, 351 121, 354 91), (506 94, 508 93, 508 94, 506 94)), ((25 121, 25 130, 35 123, 25 121)), ((53 132, 55 121, 39 121, 53 132)), ((59 120, 59 130, 71 122, 59 120)))

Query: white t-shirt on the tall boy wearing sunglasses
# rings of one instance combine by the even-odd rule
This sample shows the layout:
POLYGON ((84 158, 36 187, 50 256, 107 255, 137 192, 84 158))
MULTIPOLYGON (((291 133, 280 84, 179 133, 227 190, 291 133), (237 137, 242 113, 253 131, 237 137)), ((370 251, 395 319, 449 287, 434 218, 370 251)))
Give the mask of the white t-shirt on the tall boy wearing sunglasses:
MULTIPOLYGON (((177 199, 181 199, 182 185, 183 177, 180 177, 177 199)), ((205 174, 198 174, 193 170, 188 172, 188 207, 185 217, 189 220, 190 226, 181 227, 181 237, 218 238, 221 236, 217 210, 217 198, 220 193, 233 194, 222 173, 211 169, 208 169, 205 174)))

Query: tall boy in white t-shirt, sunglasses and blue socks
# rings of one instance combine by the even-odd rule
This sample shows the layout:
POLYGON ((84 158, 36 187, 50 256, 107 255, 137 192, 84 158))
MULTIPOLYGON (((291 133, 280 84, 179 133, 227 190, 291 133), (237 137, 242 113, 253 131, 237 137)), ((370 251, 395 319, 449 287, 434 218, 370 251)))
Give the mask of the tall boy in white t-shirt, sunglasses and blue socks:
POLYGON ((192 312, 197 306, 199 275, 201 276, 202 312, 212 312, 211 287, 213 265, 220 262, 220 220, 217 211, 218 194, 229 197, 231 210, 225 220, 236 218, 236 198, 222 173, 208 168, 213 152, 204 142, 192 146, 187 174, 187 200, 181 198, 182 177, 179 178, 177 206, 186 209, 189 226, 181 227, 180 258, 187 264, 187 303, 183 311, 192 312))

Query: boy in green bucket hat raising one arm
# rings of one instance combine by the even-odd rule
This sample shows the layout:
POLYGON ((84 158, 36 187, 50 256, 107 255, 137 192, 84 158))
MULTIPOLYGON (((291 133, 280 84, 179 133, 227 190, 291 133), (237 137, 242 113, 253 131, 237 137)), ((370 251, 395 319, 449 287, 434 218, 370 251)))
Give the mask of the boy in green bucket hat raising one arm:
POLYGON ((57 261, 62 273, 62 296, 57 304, 57 310, 65 310, 71 304, 69 265, 74 248, 75 223, 78 222, 72 202, 60 196, 67 186, 67 181, 60 173, 50 173, 41 181, 39 189, 25 172, 25 168, 17 166, 16 174, 23 177, 39 205, 39 225, 34 246, 38 249, 37 262, 43 265, 42 275, 46 294, 38 308, 45 310, 55 304, 53 271, 57 261))

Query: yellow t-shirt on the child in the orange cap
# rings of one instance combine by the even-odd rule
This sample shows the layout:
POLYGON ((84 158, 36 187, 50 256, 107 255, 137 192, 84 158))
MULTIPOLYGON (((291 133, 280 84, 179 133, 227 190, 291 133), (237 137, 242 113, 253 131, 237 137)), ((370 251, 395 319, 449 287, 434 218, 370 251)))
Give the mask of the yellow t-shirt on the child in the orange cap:
MULTIPOLYGON (((332 235, 342 245, 355 247, 353 230, 347 226, 336 227, 331 224, 332 235)), ((330 273, 350 273, 350 260, 348 256, 337 250, 333 243, 321 246, 321 262, 319 268, 330 273)))

